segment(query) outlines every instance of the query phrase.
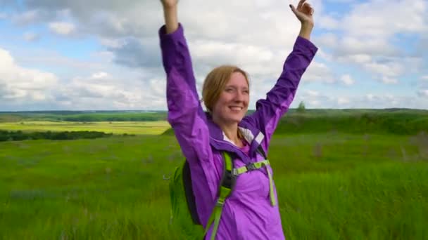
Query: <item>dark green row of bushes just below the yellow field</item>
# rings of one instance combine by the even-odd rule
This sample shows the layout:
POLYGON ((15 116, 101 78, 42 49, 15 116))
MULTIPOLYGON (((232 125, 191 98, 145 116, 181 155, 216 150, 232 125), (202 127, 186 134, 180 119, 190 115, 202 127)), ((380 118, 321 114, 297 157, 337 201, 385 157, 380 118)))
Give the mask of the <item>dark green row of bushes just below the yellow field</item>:
MULTIPOLYGON (((75 140, 75 139, 93 139, 106 138, 113 133, 103 133, 98 131, 64 131, 64 132, 32 132, 24 133, 23 131, 2 131, 0 130, 0 142, 4 141, 21 141, 21 140, 75 140)), ((124 134, 127 135, 127 134, 124 134)))

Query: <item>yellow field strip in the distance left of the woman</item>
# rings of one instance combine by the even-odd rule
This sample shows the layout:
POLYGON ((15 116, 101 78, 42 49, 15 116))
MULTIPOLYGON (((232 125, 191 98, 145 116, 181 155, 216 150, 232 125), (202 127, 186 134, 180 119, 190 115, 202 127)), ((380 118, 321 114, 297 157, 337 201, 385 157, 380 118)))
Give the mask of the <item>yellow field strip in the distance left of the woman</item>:
POLYGON ((168 121, 22 121, 0 123, 6 131, 100 131, 113 134, 158 135, 170 128, 168 121))

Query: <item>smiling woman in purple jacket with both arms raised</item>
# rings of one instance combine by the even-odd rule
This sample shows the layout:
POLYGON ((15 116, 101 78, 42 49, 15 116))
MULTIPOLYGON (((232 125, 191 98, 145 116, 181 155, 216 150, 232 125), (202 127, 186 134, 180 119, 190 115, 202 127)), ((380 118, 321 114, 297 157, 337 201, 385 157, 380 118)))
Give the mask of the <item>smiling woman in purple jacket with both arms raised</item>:
POLYGON ((244 70, 234 66, 213 69, 203 84, 203 112, 196 91, 184 29, 177 20, 177 0, 161 0, 165 25, 160 28, 163 67, 167 74, 168 121, 174 128, 182 152, 189 162, 197 212, 206 239, 284 239, 272 168, 248 168, 237 175, 232 194, 222 204, 220 222, 208 221, 218 204, 223 171, 222 152, 233 156, 235 168, 265 160, 270 138, 296 94, 303 72, 317 47, 310 41, 313 9, 305 0, 291 6, 301 31, 283 72, 267 98, 258 100, 256 112, 246 115, 249 82, 244 70), (214 231, 213 231, 213 228, 214 231))

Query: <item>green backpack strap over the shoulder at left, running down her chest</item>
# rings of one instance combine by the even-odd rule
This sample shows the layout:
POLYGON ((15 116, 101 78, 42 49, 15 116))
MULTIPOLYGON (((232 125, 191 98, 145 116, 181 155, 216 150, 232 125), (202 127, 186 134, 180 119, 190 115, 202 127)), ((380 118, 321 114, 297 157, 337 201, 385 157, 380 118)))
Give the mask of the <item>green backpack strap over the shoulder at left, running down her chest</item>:
POLYGON ((224 159, 224 168, 222 180, 220 181, 220 189, 217 203, 214 206, 213 212, 208 219, 208 223, 205 228, 205 233, 208 232, 210 226, 214 223, 213 232, 211 232, 211 240, 215 239, 215 234, 217 234, 218 224, 220 222, 220 217, 222 215, 223 206, 225 205, 225 200, 232 193, 232 188, 234 187, 235 176, 233 175, 233 161, 232 158, 227 154, 227 152, 222 152, 224 159))

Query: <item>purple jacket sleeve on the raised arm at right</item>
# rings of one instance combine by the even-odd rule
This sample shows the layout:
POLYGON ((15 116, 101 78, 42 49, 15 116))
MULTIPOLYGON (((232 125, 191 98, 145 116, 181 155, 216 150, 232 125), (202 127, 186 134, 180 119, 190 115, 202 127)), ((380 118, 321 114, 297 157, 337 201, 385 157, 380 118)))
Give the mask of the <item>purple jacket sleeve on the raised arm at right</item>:
POLYGON ((288 111, 294 95, 296 95, 301 76, 316 52, 317 47, 313 43, 298 36, 293 51, 284 62, 282 74, 277 83, 267 93, 266 99, 256 102, 256 112, 246 118, 253 126, 262 131, 267 142, 270 142, 279 119, 288 111))

